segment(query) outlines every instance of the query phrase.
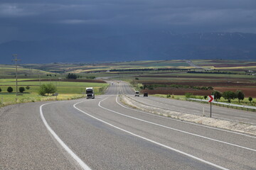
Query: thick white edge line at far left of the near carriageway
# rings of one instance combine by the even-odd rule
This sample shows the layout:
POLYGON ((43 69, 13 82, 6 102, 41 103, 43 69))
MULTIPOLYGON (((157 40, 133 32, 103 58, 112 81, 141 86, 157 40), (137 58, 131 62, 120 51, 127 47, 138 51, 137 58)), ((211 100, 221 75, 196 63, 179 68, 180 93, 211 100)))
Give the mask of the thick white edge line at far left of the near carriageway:
MULTIPOLYGON (((53 103, 55 103, 55 102, 53 102, 53 103)), ((42 111, 42 107, 47 104, 50 104, 50 103, 46 103, 46 104, 43 104, 40 106, 41 119, 43 120, 43 123, 46 126, 47 130, 50 132, 51 135, 53 135, 55 140, 58 141, 58 143, 65 149, 65 151, 68 152, 68 154, 70 154, 70 156, 73 157, 73 159, 75 159, 76 162, 78 162, 78 164, 81 166, 82 169, 90 170, 90 167, 87 166, 87 164, 85 164, 85 162, 82 162, 82 160, 67 145, 65 145, 63 140, 60 140, 60 137, 58 137, 58 135, 52 130, 52 128, 50 128, 50 125, 48 125, 46 118, 44 118, 44 116, 43 116, 43 111, 42 111)))

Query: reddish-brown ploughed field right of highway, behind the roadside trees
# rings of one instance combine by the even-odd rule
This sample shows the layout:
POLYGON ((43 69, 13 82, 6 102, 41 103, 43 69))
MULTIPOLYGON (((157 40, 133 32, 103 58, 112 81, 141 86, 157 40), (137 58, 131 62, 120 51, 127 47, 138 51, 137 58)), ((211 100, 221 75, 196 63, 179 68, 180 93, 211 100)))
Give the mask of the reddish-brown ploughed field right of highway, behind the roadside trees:
MULTIPOLYGON (((153 75, 150 76, 150 78, 154 77, 153 75)), ((164 76, 157 76, 157 77, 163 77, 164 76)), ((171 80, 157 80, 154 81, 152 79, 148 80, 138 80, 137 82, 140 84, 146 84, 146 85, 152 85, 152 84, 176 84, 176 85, 182 85, 182 86, 211 86, 215 91, 237 91, 241 90, 245 97, 253 97, 256 98, 256 84, 255 81, 252 81, 252 79, 246 79, 246 78, 232 78, 230 81, 227 81, 227 77, 182 77, 186 79, 181 79, 178 81, 177 79, 171 81, 171 80), (195 78, 201 78, 201 79, 195 79, 195 78)), ((198 89, 192 89, 192 88, 174 88, 174 87, 165 87, 161 88, 158 87, 154 90, 145 89, 142 91, 142 93, 148 92, 149 94, 174 94, 174 95, 184 95, 186 93, 191 93, 195 96, 207 96, 210 95, 213 90, 198 90, 198 89)))

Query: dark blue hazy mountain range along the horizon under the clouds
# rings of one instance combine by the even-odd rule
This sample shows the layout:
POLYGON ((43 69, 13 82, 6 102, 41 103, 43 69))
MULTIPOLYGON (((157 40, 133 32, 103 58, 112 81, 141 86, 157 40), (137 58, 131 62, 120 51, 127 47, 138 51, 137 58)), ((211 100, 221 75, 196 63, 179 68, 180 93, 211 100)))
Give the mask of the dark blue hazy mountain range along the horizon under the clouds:
POLYGON ((256 60, 256 34, 169 31, 82 40, 48 39, 0 44, 1 63, 18 54, 22 63, 114 62, 132 60, 256 60))

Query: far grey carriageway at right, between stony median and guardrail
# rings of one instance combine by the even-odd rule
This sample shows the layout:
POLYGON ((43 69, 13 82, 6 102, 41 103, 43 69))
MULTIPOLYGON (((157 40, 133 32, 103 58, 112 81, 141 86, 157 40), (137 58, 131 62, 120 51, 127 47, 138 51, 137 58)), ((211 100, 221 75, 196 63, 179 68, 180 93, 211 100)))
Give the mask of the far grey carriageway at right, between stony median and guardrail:
MULTIPOLYGON (((197 103, 195 101, 177 101, 171 98, 158 98, 154 96, 134 97, 134 91, 129 88, 129 84, 121 82, 125 88, 119 91, 120 94, 129 94, 129 97, 135 101, 144 103, 148 106, 156 108, 163 108, 169 111, 178 111, 181 113, 206 115, 210 116, 210 105, 208 103, 197 103)), ((256 113, 250 111, 236 110, 232 108, 225 108, 220 106, 212 106, 212 118, 221 118, 223 120, 236 120, 242 123, 250 123, 256 125, 256 113)))

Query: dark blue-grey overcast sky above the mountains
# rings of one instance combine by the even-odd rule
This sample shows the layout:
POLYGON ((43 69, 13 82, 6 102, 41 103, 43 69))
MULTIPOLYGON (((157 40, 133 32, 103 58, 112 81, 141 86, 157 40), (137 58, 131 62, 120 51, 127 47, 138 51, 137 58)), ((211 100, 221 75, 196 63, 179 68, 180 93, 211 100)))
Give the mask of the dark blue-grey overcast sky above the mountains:
POLYGON ((0 42, 155 30, 256 33, 256 0, 0 1, 0 42))

